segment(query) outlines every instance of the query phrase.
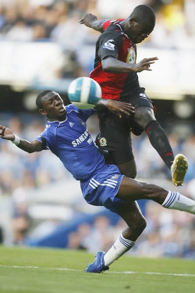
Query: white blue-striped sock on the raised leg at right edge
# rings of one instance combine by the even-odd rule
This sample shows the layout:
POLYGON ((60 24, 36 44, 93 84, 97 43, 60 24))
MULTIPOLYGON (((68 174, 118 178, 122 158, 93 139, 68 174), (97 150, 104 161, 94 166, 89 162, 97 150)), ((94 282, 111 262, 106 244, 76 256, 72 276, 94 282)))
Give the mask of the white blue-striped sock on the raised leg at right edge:
POLYGON ((185 211, 195 215, 195 201, 179 192, 169 191, 162 206, 164 208, 172 208, 174 210, 185 211))

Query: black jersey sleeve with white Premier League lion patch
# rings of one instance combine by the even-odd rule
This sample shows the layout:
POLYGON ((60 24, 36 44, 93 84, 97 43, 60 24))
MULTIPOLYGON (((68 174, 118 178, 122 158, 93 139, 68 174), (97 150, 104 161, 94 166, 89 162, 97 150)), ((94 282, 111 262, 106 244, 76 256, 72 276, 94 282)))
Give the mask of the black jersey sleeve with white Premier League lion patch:
POLYGON ((122 45, 122 34, 119 30, 105 31, 101 35, 98 55, 101 60, 112 56, 118 58, 119 48, 122 45))

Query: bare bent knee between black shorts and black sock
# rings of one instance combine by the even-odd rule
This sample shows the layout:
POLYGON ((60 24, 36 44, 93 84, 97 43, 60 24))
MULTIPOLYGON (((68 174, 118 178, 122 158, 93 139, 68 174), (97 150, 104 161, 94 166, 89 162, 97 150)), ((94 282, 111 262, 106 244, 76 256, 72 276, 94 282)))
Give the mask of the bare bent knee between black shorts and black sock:
POLYGON ((135 110, 134 119, 144 129, 150 121, 156 120, 154 111, 149 107, 137 108, 135 110))

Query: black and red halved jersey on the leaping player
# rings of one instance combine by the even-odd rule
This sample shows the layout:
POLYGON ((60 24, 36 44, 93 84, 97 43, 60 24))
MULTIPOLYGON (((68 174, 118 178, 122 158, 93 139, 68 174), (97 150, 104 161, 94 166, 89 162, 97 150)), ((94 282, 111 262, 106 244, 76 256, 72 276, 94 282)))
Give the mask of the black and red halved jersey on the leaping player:
POLYGON ((94 70, 90 73, 99 83, 102 89, 102 98, 122 100, 129 95, 141 92, 136 72, 108 73, 102 70, 101 61, 112 56, 126 63, 136 63, 137 48, 128 36, 123 32, 120 21, 108 20, 103 24, 104 32, 96 43, 96 55, 94 70))

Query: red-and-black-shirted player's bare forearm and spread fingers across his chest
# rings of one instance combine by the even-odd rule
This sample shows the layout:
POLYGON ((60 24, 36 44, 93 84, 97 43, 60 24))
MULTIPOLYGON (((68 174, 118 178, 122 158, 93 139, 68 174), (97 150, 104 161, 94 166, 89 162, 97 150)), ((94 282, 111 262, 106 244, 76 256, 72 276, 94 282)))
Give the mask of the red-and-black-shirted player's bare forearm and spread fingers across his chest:
POLYGON ((125 63, 112 56, 108 56, 101 61, 102 69, 109 73, 128 73, 130 71, 141 72, 144 70, 152 71, 150 65, 153 64, 157 57, 144 58, 137 64, 125 63))

